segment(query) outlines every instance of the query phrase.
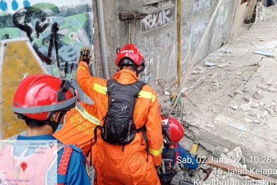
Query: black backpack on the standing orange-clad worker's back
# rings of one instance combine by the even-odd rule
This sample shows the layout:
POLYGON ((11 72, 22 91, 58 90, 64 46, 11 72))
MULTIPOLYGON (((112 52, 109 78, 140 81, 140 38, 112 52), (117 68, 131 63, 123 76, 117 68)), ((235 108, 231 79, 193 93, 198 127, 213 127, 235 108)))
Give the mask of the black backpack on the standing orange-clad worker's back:
POLYGON ((133 121, 138 93, 144 85, 145 83, 141 81, 127 85, 120 84, 114 79, 107 81, 108 111, 104 117, 104 124, 100 127, 101 138, 109 144, 122 145, 122 151, 124 151, 124 146, 131 143, 136 133, 140 131, 143 133, 148 148, 144 127, 137 129, 133 121))

